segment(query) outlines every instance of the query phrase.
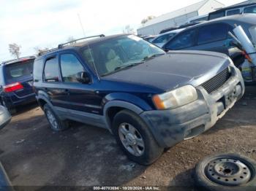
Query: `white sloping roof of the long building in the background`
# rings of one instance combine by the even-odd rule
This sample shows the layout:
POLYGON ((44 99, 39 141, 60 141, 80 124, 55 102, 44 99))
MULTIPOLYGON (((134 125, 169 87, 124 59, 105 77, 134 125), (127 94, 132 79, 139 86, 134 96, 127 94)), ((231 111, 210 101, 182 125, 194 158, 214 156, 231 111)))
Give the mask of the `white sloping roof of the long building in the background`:
MULTIPOLYGON (((143 26, 141 26, 141 28, 144 28, 146 26, 154 25, 155 23, 161 23, 165 20, 170 20, 171 18, 179 17, 181 15, 186 15, 190 12, 195 12, 195 11, 199 10, 201 7, 203 7, 203 5, 205 5, 208 1, 211 1, 211 0, 200 1, 196 4, 192 4, 192 5, 189 5, 187 7, 178 9, 176 11, 168 12, 164 15, 160 15, 159 17, 155 17, 152 20, 148 20, 148 22, 146 22, 143 26)), ((140 29, 140 28, 138 28, 138 29, 140 29)))

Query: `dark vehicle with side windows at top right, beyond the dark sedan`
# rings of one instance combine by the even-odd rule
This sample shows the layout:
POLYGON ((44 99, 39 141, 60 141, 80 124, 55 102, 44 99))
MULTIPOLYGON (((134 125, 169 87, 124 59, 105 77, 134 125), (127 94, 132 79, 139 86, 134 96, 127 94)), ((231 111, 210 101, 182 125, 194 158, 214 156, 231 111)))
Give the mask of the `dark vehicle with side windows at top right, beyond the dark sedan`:
POLYGON ((215 12, 210 12, 208 15, 208 20, 213 20, 219 17, 225 17, 230 15, 245 14, 245 13, 256 13, 256 3, 225 7, 215 12))

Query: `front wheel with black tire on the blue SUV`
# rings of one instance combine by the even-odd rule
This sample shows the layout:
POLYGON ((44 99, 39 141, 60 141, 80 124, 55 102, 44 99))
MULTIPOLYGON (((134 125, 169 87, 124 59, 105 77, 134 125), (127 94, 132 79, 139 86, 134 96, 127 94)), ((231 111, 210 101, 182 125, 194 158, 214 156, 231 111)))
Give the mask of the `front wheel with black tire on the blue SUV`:
POLYGON ((150 165, 162 155, 164 148, 159 147, 157 141, 148 129, 148 126, 137 114, 129 110, 118 112, 113 119, 112 128, 117 144, 121 147, 129 160, 141 165, 150 165), (125 133, 127 133, 126 136, 124 136, 125 133), (137 140, 136 144, 134 138, 137 140), (129 142, 127 145, 135 144, 133 147, 137 149, 133 149, 133 151, 136 150, 137 152, 132 153, 133 147, 131 145, 125 146, 123 142, 129 142), (141 147, 141 145, 143 145, 143 147, 141 147))

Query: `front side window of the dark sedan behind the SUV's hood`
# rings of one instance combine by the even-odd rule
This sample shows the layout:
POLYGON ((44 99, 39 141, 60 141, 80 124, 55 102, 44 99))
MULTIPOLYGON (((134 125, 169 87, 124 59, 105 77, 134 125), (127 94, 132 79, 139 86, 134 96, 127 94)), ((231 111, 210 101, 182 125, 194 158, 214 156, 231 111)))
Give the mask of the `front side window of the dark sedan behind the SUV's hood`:
POLYGON ((173 40, 168 42, 165 45, 165 48, 167 50, 181 50, 187 47, 192 47, 195 45, 195 36, 195 30, 185 31, 184 33, 174 37, 173 40))

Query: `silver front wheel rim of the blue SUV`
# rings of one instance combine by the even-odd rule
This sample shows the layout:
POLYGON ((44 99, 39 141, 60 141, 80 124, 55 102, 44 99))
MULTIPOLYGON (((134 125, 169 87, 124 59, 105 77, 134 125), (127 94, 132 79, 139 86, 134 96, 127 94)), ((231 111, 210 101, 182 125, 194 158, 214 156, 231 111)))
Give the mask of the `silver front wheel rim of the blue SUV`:
POLYGON ((143 155, 145 144, 139 131, 131 124, 124 122, 118 127, 118 134, 124 148, 129 153, 139 157, 143 155))

